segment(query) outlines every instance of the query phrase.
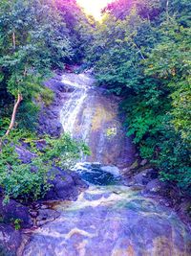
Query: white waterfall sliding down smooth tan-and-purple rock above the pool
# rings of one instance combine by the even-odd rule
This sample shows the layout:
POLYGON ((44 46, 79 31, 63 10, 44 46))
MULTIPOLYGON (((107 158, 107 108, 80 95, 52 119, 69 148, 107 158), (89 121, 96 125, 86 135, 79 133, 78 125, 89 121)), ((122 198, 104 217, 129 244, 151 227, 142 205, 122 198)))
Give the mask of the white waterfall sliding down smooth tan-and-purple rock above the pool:
POLYGON ((64 74, 62 82, 72 90, 66 93, 60 123, 65 132, 90 147, 92 154, 84 160, 130 165, 135 151, 118 116, 119 99, 106 96, 86 74, 64 74))

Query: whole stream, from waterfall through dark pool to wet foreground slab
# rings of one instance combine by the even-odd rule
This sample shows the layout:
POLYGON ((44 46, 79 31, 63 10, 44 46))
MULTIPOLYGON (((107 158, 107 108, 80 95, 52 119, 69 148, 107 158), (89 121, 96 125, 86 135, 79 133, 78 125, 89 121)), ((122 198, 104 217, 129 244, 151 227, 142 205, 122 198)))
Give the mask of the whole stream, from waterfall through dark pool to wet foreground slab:
POLYGON ((76 201, 53 204, 59 217, 32 232, 23 256, 189 256, 187 226, 169 207, 124 186, 120 168, 135 149, 118 115, 119 100, 93 86, 87 74, 64 74, 60 122, 89 145, 74 167, 89 188, 76 201))

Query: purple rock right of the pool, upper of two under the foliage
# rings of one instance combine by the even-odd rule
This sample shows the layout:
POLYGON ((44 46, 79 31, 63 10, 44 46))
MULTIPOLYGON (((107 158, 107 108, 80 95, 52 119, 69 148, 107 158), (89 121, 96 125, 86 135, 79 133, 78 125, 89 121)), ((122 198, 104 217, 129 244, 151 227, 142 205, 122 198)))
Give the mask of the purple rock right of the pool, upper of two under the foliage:
POLYGON ((146 169, 133 177, 132 184, 144 186, 157 176, 158 173, 154 169, 146 169))

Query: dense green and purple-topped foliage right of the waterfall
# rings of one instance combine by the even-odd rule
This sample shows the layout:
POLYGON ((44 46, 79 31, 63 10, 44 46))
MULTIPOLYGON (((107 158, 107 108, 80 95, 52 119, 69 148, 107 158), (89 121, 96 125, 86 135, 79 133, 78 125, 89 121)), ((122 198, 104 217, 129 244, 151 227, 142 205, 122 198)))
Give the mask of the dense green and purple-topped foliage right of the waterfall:
POLYGON ((191 192, 188 0, 117 0, 103 11, 88 59, 98 84, 123 98, 128 135, 163 180, 191 192))

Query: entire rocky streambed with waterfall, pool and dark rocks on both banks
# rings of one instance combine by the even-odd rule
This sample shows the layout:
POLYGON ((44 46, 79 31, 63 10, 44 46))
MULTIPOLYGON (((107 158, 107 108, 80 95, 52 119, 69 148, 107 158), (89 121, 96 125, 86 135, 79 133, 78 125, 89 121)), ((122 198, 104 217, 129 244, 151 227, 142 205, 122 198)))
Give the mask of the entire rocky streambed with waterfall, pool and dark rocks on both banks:
MULTIPOLYGON (((57 75, 46 85, 54 100, 41 106, 38 132, 70 132, 92 155, 82 155, 73 171, 53 169, 43 200, 3 205, 0 199, 0 255, 191 255, 182 210, 189 199, 174 199, 178 194, 138 159, 117 112, 119 99, 86 74, 57 75)), ((26 163, 34 157, 25 147, 17 152, 26 163)))

